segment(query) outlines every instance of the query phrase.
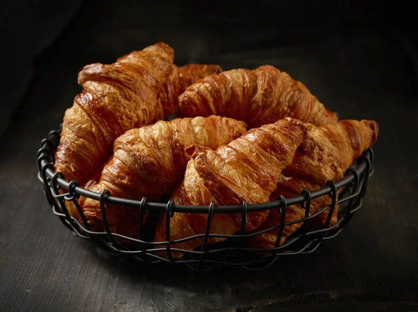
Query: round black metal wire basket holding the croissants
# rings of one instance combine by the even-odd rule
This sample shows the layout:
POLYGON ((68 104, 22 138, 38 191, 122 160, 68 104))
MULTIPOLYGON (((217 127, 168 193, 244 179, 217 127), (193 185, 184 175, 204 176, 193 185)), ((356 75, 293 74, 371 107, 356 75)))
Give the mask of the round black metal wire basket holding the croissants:
POLYGON ((148 202, 146 198, 141 201, 112 197, 109 191, 104 190, 101 194, 91 192, 80 188, 77 181, 65 181, 61 172, 54 172, 54 153, 59 145, 59 133, 61 129, 49 132, 47 138, 41 141, 41 148, 37 154, 38 178, 42 181, 45 188, 45 195, 52 211, 77 236, 89 238, 97 243, 100 248, 121 261, 139 261, 142 264, 151 263, 175 263, 178 265, 187 265, 194 270, 211 270, 221 266, 241 267, 247 270, 263 270, 272 265, 281 256, 294 254, 307 254, 314 252, 323 240, 334 238, 341 229, 353 217, 354 213, 362 206, 362 198, 366 193, 366 186, 369 176, 373 174, 373 151, 368 149, 363 155, 347 170, 346 176, 341 181, 329 181, 327 186, 319 190, 303 190, 297 197, 285 198, 280 196, 275 202, 263 204, 247 204, 245 201, 236 206, 215 206, 213 203, 209 206, 183 206, 176 205, 172 201, 167 202, 148 202), (59 192, 60 188, 68 190, 66 194, 59 192), (341 189, 339 199, 337 200, 337 190, 341 189), (89 197, 100 201, 100 209, 104 223, 104 232, 91 231, 86 222, 86 217, 80 208, 77 199, 80 196, 89 197), (309 215, 311 199, 321 196, 327 196, 331 199, 329 206, 323 207, 317 213, 309 215), (71 217, 65 205, 65 201, 75 204, 83 223, 71 217), (144 224, 144 215, 149 211, 150 215, 164 212, 166 215, 166 239, 165 242, 153 241, 153 229, 155 222, 153 217, 148 217, 145 225, 140 227, 138 239, 121 236, 117 233, 111 233, 107 223, 106 209, 111 204, 119 206, 130 206, 138 208, 138 222, 144 224), (305 208, 305 217, 300 220, 285 223, 286 207, 294 204, 301 204, 305 208), (338 205, 338 206, 336 206, 338 205), (330 226, 330 218, 334 209, 338 207, 338 222, 330 226), (275 227, 270 227, 263 231, 253 231, 245 233, 245 223, 247 213, 250 211, 263 211, 270 209, 279 209, 281 213, 281 222, 275 227), (286 239, 284 244, 279 245, 283 229, 286 225, 304 222, 316 217, 320 213, 328 211, 327 223, 322 229, 308 231, 308 227, 302 226, 295 233, 286 239), (170 218, 173 213, 208 213, 208 222, 206 224, 205 234, 183 238, 181 240, 170 240, 170 218), (210 233, 210 222, 217 213, 242 213, 242 224, 240 233, 231 236, 217 235, 210 233), (84 224, 86 224, 84 226, 84 224), (249 236, 255 236, 265 231, 279 229, 277 243, 273 248, 247 248, 243 247, 243 241, 249 236), (207 244, 209 237, 228 238, 222 243, 213 245, 207 244), (123 244, 121 240, 115 238, 125 238, 134 244, 123 244), (185 250, 171 247, 174 243, 180 241, 201 239, 203 245, 198 249, 185 250), (157 245, 165 246, 156 248, 157 245), (157 256, 155 252, 166 251, 167 258, 157 256), (173 258, 171 252, 183 252, 182 258, 173 258))

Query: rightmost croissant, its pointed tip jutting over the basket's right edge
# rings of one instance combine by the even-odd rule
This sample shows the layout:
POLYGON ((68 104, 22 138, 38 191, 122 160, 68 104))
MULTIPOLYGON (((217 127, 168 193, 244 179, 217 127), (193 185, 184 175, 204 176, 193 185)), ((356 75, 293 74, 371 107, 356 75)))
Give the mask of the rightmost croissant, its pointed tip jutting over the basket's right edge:
MULTIPOLYGON (((327 181, 338 181, 343 178, 346 170, 352 165, 363 151, 369 149, 378 138, 378 124, 374 120, 342 120, 336 124, 314 126, 305 124, 307 134, 300 147, 297 148, 293 161, 281 171, 277 188, 272 192, 270 200, 278 195, 294 197, 300 195, 304 188, 317 190, 323 188, 327 181)), ((311 200, 310 214, 314 214, 331 204, 329 196, 321 196, 311 200)), ((337 222, 338 208, 334 209, 330 225, 337 222)), ((285 222, 292 222, 304 217, 304 208, 300 205, 286 208, 285 222)), ((327 220, 329 210, 318 215, 314 226, 323 226, 327 220), (316 223, 316 224, 315 224, 316 223), (318 224, 319 223, 319 224, 318 224)), ((261 227, 263 230, 280 224, 281 215, 277 209, 272 209, 261 227)), ((284 227, 280 244, 294 233, 301 222, 284 227)), ((251 236, 247 244, 251 247, 270 248, 279 233, 279 228, 251 236)))

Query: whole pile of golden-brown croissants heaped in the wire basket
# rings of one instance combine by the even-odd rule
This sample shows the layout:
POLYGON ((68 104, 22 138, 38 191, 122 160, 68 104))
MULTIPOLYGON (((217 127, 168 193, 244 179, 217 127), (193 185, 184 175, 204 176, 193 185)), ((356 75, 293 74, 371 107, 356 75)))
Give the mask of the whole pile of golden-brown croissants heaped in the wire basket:
MULTIPOLYGON (((293 197, 304 188, 315 190, 341 179, 362 151, 376 142, 376 122, 336 123, 336 114, 305 85, 275 67, 222 72, 218 65, 178 67, 173 58, 173 49, 160 42, 111 65, 84 67, 79 73, 84 90, 65 112, 56 171, 88 190, 106 189, 126 199, 155 201, 176 189, 171 195, 176 204, 233 205, 244 200, 254 204, 279 195, 293 197), (178 114, 185 118, 161 121, 178 114), (247 125, 251 130, 245 133, 247 125)), ((85 197, 78 201, 91 229, 103 231, 99 202, 85 197)), ((79 219, 75 206, 65 204, 79 219)), ((311 214, 328 204, 325 196, 312 200, 311 214)), ((249 232, 279 224, 281 215, 272 209, 247 217, 249 232)), ((301 206, 287 208, 286 222, 302 217, 301 206)), ((210 233, 237 233, 241 218, 241 213, 217 213, 210 233)), ((107 220, 112 232, 137 238, 136 208, 111 205, 107 220)), ((321 227, 325 220, 327 212, 309 227, 321 227)), ((175 213, 170 221, 170 240, 178 240, 205 233, 208 215, 175 213)), ((336 222, 335 210, 330 224, 336 222)), ((285 227, 280 243, 300 225, 285 227)), ((155 241, 166 240, 165 228, 163 213, 155 241)), ((274 247, 278 231, 246 243, 274 247)), ((211 237, 208 243, 222 240, 211 237)), ((171 247, 191 250, 202 243, 199 238, 171 247)))

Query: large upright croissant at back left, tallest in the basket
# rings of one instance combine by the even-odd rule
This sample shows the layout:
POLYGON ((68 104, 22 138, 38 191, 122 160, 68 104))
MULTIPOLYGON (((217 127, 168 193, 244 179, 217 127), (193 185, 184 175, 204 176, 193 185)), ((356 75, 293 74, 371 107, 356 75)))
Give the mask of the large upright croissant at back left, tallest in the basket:
POLYGON ((221 70, 217 65, 178 68, 173 58, 173 49, 159 42, 111 65, 84 67, 78 78, 84 90, 64 115, 56 171, 84 185, 102 168, 118 136, 175 113, 187 83, 221 70))

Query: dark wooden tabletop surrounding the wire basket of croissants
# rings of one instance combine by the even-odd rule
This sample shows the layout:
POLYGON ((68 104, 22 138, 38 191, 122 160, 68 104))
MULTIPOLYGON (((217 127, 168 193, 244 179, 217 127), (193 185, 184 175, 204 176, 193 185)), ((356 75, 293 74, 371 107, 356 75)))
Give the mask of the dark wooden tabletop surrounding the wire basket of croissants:
MULTIPOLYGON (((418 310, 412 9, 362 1, 198 2, 84 1, 35 53, 33 79, 0 138, 0 311, 418 310), (376 173, 362 209, 337 238, 262 272, 198 274, 118 265, 52 215, 36 178, 36 150, 81 90, 77 73, 158 41, 176 50, 178 65, 274 65, 341 118, 380 124, 376 173)), ((16 27, 25 33, 31 25, 16 27)), ((19 58, 3 63, 13 68, 19 58)))

